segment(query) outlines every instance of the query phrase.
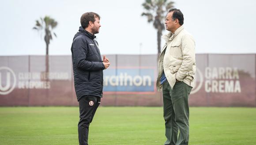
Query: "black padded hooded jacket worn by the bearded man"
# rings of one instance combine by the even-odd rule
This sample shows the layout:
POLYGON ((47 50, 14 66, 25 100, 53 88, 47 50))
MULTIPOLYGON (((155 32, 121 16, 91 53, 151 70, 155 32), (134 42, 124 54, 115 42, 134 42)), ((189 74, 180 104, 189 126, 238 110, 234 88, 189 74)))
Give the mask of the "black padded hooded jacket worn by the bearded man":
POLYGON ((105 66, 95 37, 80 26, 73 39, 71 52, 78 101, 86 96, 102 97, 105 66))

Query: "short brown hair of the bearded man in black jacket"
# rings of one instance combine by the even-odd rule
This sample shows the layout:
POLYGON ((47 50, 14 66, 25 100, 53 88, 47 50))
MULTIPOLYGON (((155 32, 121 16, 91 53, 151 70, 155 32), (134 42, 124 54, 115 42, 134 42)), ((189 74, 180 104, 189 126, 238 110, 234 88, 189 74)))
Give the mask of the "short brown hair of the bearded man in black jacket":
POLYGON ((100 16, 97 13, 94 13, 94 12, 84 13, 80 18, 80 23, 81 23, 81 26, 83 27, 83 29, 88 27, 90 21, 94 22, 95 18, 100 19, 100 16))

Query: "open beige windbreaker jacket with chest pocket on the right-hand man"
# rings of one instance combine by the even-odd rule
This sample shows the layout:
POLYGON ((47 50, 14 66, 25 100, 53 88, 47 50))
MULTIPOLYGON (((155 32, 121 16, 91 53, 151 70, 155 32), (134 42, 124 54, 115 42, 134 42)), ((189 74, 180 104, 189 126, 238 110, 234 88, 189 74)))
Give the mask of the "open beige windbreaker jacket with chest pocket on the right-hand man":
POLYGON ((165 72, 166 78, 173 89, 176 79, 194 87, 196 73, 195 40, 190 33, 179 27, 175 33, 162 36, 166 40, 158 58, 158 78, 156 87, 162 91, 160 78, 165 72))

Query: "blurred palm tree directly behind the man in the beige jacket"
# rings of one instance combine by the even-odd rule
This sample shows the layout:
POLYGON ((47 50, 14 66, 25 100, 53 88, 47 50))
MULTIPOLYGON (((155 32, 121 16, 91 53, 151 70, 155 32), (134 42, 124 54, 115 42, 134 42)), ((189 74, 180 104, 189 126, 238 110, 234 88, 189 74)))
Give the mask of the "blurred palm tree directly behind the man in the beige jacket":
POLYGON ((147 12, 143 12, 141 15, 147 17, 147 22, 153 22, 154 28, 157 29, 158 54, 161 52, 162 31, 165 29, 166 15, 164 14, 173 7, 173 4, 174 2, 169 0, 146 0, 142 4, 147 12))

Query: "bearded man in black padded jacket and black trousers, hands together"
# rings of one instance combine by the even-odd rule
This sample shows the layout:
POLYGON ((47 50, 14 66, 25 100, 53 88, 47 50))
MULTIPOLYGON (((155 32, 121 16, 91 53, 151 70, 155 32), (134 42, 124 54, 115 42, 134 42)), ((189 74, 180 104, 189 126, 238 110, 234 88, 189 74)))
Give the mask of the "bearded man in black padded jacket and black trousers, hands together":
POLYGON ((94 34, 99 33, 100 16, 87 12, 81 16, 79 32, 74 36, 71 52, 75 94, 79 101, 78 137, 80 145, 88 145, 89 125, 100 105, 103 89, 103 69, 108 58, 101 54, 94 34))

